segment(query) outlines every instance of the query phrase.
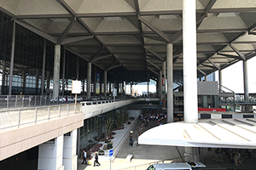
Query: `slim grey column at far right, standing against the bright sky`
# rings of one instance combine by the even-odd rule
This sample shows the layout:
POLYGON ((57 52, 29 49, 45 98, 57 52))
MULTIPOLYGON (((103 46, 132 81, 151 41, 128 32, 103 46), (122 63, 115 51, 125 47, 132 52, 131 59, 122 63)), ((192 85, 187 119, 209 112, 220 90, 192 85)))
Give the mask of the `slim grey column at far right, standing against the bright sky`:
MULTIPOLYGON (((247 61, 242 62, 243 68, 243 90, 244 90, 244 100, 249 100, 249 90, 248 90, 248 69, 247 69, 247 61)), ((249 111, 249 107, 245 106, 245 111, 249 111)))

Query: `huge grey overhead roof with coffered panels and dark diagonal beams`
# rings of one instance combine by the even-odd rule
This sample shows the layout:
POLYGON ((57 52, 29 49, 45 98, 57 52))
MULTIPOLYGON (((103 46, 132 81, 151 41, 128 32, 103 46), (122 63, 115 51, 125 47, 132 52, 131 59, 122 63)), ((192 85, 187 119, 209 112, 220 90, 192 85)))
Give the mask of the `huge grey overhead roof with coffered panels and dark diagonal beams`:
MULTIPOLYGON (((173 43, 176 81, 183 71, 182 0, 0 0, 20 26, 119 73, 159 74, 173 43)), ((197 0, 198 76, 255 55, 256 1, 197 0)))

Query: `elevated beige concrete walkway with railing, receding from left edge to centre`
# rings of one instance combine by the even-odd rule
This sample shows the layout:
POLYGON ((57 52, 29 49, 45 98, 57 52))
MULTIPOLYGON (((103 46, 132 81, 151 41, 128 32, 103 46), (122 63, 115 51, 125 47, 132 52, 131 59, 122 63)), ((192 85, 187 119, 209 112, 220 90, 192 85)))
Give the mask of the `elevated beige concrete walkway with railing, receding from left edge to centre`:
POLYGON ((84 119, 145 99, 91 101, 0 111, 0 161, 84 126, 84 119), (90 103, 90 104, 89 104, 90 103))

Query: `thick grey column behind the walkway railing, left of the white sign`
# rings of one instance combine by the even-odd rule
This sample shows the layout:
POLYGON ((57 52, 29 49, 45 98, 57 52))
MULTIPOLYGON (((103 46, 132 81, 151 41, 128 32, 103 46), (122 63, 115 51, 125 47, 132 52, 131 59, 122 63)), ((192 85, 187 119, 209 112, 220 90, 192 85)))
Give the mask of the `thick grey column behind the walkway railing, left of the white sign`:
POLYGON ((60 64, 61 64, 61 45, 55 44, 55 65, 54 65, 54 79, 53 79, 53 98, 59 96, 60 86, 60 64))

